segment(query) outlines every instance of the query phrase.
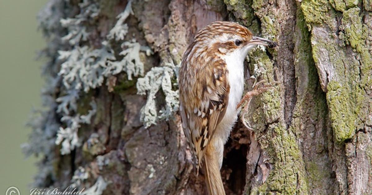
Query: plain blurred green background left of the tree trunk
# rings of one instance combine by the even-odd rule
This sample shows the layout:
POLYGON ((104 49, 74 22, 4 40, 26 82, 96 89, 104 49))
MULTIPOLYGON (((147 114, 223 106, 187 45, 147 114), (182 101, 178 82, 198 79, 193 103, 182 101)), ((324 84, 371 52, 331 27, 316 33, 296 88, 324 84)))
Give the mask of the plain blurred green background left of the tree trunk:
MULTIPOLYGON (((30 194, 37 172, 36 158, 25 159, 20 144, 31 132, 25 124, 31 108, 41 107, 43 61, 35 61, 45 47, 36 15, 47 0, 0 0, 0 194, 9 186, 30 194)), ((45 61, 45 60, 44 60, 45 61)))

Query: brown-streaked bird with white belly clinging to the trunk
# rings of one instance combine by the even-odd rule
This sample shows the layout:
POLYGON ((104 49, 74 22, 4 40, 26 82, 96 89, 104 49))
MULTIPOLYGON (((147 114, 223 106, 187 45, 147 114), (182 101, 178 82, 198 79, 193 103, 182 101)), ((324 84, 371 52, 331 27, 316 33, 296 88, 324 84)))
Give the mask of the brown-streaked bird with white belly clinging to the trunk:
POLYGON ((242 104, 244 59, 257 45, 277 46, 236 22, 217 21, 196 33, 182 57, 178 81, 182 129, 196 174, 202 167, 209 195, 225 195, 220 173, 224 145, 242 104))

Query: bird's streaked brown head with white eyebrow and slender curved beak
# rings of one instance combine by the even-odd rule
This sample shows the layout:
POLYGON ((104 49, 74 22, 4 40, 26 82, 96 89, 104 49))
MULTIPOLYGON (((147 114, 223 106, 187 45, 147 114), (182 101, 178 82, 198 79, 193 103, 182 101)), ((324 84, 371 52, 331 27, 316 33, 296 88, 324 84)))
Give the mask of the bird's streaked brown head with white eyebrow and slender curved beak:
POLYGON ((233 55, 244 61, 248 51, 264 45, 270 48, 277 46, 273 41, 254 37, 244 26, 235 22, 213 22, 201 29, 195 36, 192 47, 196 56, 214 53, 218 56, 233 55))

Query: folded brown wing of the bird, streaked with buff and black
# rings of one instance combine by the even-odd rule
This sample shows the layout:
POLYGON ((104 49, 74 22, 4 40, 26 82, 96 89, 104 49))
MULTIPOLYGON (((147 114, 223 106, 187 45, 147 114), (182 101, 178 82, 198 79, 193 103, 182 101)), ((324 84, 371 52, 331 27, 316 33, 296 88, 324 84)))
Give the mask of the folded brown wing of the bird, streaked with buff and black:
POLYGON ((230 91, 227 74, 223 60, 209 62, 197 68, 187 68, 187 64, 183 64, 180 69, 182 127, 197 168, 226 111, 230 91), (192 68, 197 70, 190 71, 192 68))

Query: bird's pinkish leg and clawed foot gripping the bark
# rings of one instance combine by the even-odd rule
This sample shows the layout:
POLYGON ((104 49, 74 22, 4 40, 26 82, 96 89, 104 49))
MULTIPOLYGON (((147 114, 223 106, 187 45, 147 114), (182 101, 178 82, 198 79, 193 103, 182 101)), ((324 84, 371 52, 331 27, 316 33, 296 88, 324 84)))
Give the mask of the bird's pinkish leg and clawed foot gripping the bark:
POLYGON ((241 98, 241 101, 238 103, 236 108, 237 109, 240 108, 242 106, 242 104, 245 103, 243 110, 240 112, 240 119, 243 122, 243 125, 246 126, 246 128, 253 130, 249 126, 249 124, 247 124, 246 120, 244 120, 244 116, 248 112, 249 104, 251 103, 252 98, 254 96, 262 94, 263 92, 265 92, 269 89, 272 89, 274 87, 274 85, 276 85, 276 84, 279 84, 279 82, 274 82, 273 84, 267 84, 267 82, 265 80, 259 81, 259 82, 257 82, 256 84, 253 85, 254 87, 251 91, 248 91, 246 93, 246 95, 244 95, 244 97, 241 98), (260 87, 259 86, 260 84, 263 84, 263 86, 260 87))

